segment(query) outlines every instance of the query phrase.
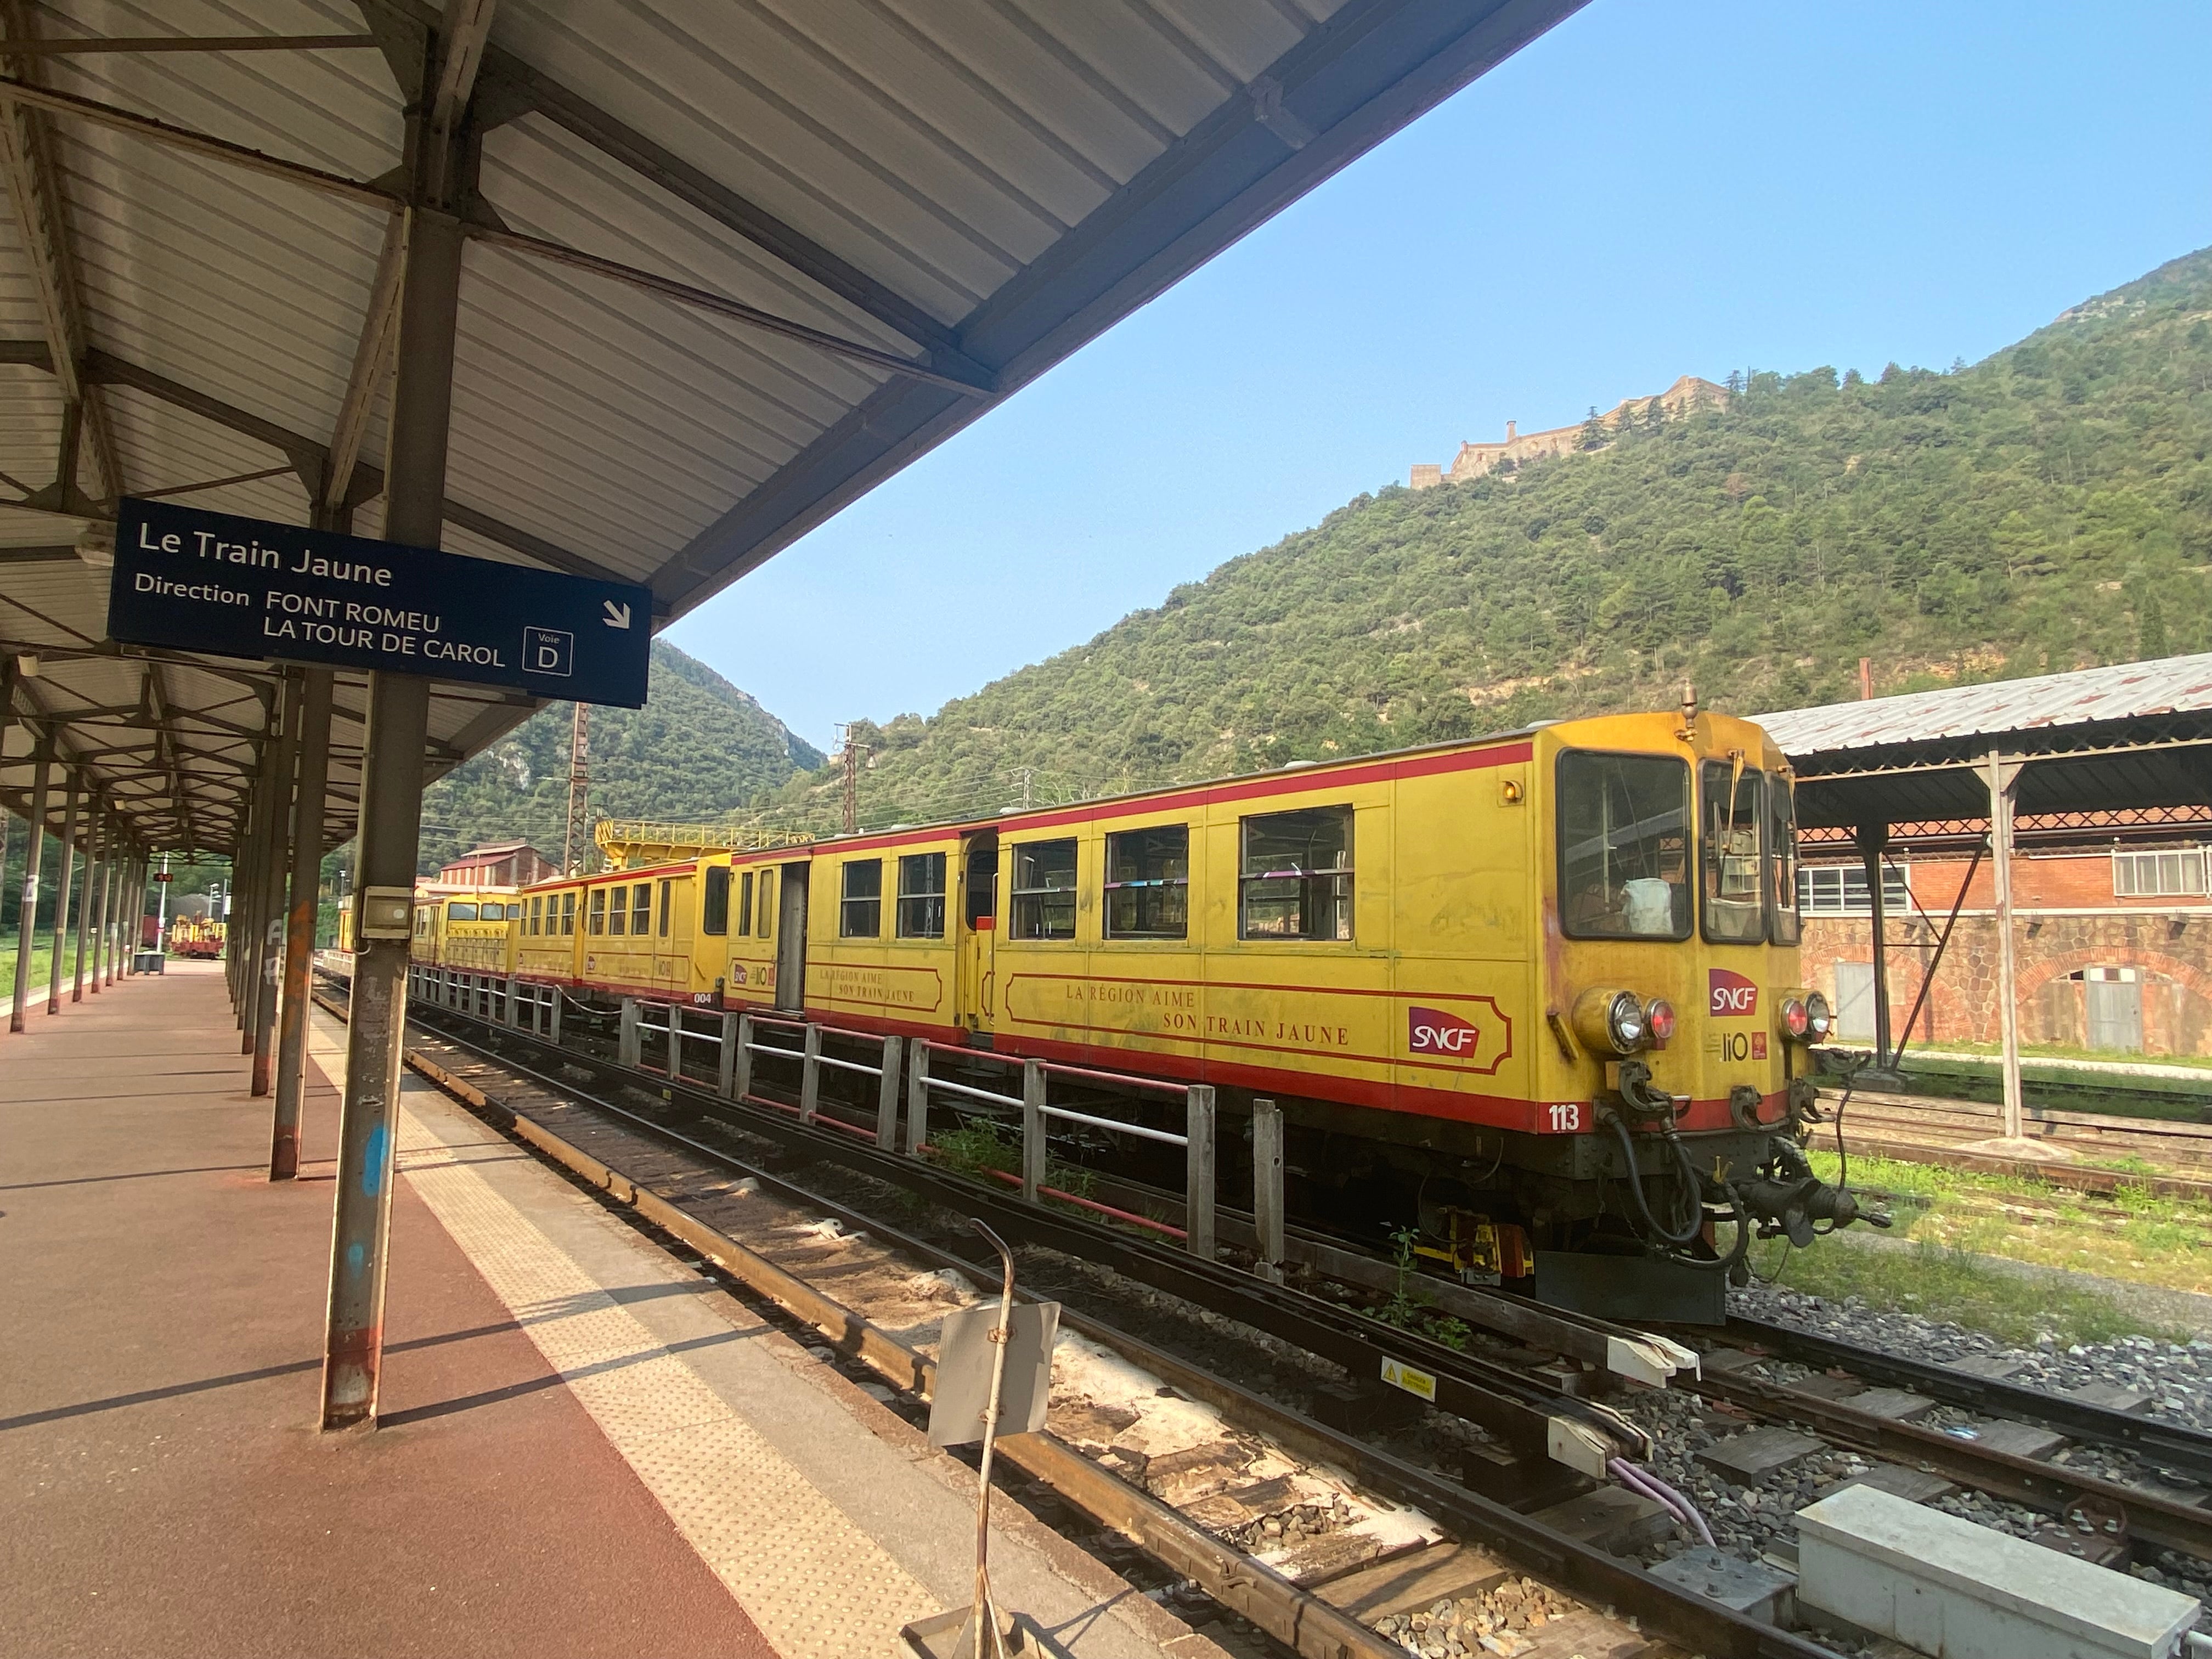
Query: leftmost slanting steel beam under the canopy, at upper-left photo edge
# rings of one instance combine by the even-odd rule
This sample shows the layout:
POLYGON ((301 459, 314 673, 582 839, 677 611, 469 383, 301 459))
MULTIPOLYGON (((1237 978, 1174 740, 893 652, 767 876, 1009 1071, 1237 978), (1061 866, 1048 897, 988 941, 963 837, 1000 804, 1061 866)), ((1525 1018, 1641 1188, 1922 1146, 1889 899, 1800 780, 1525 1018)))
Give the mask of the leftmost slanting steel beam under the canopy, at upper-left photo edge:
MULTIPOLYGON (((38 60, 13 58, 15 42, 38 38, 38 20, 27 0, 0 0, 0 24, 7 27, 9 35, 9 66, 27 86, 35 84, 42 73, 38 60)), ((84 290, 69 239, 53 135, 46 131, 44 117, 22 102, 0 108, 0 170, 7 175, 9 199, 15 204, 15 230, 22 237, 24 263, 31 268, 31 285, 38 292, 38 314, 46 327, 53 374, 62 383, 62 403, 77 407, 80 418, 91 427, 93 467, 100 473, 102 493, 122 495, 124 473, 115 453, 115 434, 108 429, 106 411, 97 398, 86 398, 77 372, 91 336, 84 327, 84 290)), ((77 507, 91 507, 91 502, 77 489, 73 436, 64 436, 62 449, 71 471, 53 480, 53 511, 71 513, 77 507)))

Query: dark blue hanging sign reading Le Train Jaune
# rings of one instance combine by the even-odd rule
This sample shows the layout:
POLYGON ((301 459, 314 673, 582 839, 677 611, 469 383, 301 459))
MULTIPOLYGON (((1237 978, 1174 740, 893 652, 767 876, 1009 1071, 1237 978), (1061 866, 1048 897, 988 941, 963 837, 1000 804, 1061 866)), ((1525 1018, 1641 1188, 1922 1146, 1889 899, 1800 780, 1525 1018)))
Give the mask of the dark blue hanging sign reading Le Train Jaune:
POLYGON ((641 708, 653 595, 126 495, 108 637, 641 708))

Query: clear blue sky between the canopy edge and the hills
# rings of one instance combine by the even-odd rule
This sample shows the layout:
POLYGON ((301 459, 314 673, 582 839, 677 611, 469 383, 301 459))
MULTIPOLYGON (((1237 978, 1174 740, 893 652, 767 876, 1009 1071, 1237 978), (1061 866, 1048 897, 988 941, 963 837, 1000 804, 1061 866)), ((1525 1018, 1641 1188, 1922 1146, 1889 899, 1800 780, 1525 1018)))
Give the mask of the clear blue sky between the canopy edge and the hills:
POLYGON ((2212 7, 1593 0, 670 630, 827 745, 1462 438, 1969 363, 2212 241, 2212 7))

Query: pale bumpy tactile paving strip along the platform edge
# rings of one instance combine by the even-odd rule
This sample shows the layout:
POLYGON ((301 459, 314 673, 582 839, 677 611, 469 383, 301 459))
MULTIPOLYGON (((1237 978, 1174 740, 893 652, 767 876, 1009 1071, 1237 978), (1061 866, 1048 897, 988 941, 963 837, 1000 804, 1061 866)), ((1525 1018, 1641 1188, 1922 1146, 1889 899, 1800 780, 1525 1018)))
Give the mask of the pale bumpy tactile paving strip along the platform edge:
POLYGON ((400 1168, 783 1659, 883 1659, 936 1599, 400 1106, 400 1168))

